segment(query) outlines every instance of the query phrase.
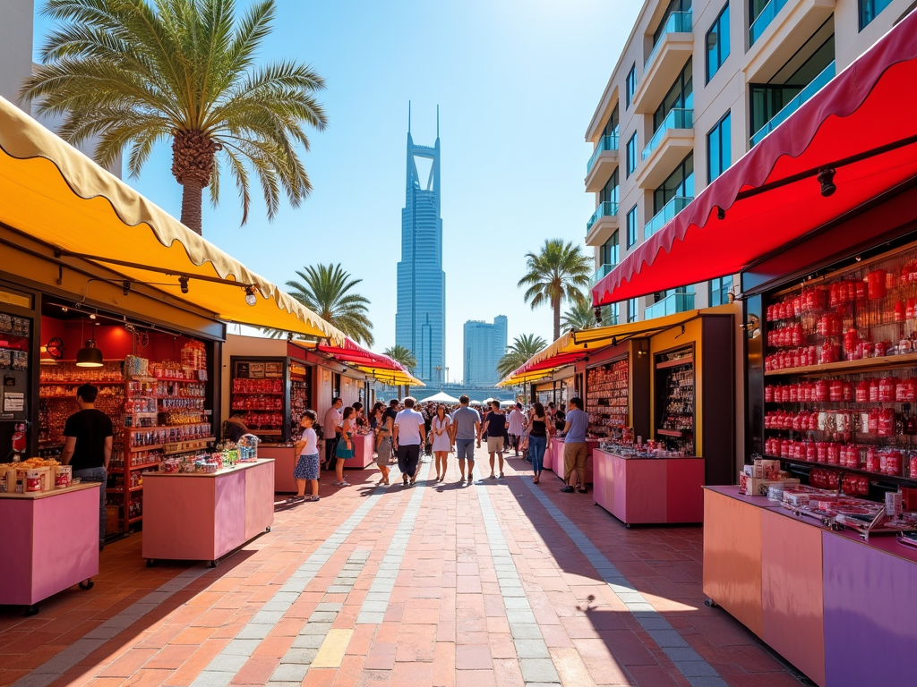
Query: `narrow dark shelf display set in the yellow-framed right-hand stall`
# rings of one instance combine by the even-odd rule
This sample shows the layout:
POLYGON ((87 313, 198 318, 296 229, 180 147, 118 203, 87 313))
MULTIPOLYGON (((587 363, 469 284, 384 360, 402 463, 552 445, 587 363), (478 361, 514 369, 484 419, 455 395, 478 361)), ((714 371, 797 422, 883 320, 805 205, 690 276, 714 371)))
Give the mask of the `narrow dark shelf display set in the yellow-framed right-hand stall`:
POLYGON ((694 356, 691 348, 657 355, 657 429, 668 448, 694 455, 694 356))

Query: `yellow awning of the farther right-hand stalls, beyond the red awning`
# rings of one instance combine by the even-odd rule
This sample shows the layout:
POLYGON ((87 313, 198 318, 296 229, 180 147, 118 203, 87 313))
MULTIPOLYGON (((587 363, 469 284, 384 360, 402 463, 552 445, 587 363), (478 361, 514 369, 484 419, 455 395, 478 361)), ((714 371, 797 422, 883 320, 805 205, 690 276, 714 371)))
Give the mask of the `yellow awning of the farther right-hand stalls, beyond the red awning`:
POLYGON ((585 355, 587 351, 595 352, 606 346, 613 345, 615 340, 623 343, 627 339, 637 339, 665 332, 679 324, 693 320, 701 311, 678 312, 667 317, 657 317, 643 322, 628 322, 627 324, 614 324, 610 327, 596 327, 581 332, 568 332, 562 334, 553 344, 539 351, 527 361, 525 365, 516 369, 513 374, 505 376, 498 387, 509 387, 514 384, 530 382, 550 376, 560 367, 565 367, 576 362, 578 355, 585 355), (557 363, 554 365, 554 363, 557 363))

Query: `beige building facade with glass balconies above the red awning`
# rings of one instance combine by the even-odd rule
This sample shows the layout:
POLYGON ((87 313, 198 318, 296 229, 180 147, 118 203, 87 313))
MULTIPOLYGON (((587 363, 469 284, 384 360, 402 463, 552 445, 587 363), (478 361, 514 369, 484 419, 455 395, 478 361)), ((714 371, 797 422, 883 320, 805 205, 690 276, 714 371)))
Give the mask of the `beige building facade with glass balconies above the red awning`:
MULTIPOLYGON (((914 0, 646 0, 586 140, 592 283, 881 38, 914 0)), ((736 240, 741 240, 736 236, 736 240)), ((633 322, 719 305, 722 278, 605 309, 633 322)))

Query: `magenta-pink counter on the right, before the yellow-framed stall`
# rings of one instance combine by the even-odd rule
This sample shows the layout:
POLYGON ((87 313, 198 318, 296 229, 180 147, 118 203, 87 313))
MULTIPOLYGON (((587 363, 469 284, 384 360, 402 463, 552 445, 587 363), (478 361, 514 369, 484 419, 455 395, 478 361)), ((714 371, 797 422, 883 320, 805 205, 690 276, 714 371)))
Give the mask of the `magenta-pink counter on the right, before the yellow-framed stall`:
POLYGON ((703 521, 703 458, 592 452, 595 503, 624 524, 703 521))

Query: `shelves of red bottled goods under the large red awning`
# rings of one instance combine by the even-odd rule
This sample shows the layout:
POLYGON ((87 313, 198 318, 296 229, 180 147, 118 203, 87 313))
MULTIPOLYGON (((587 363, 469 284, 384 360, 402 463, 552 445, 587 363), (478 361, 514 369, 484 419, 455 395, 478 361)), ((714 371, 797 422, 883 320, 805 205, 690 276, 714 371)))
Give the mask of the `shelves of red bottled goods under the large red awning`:
POLYGON ((765 453, 836 466, 810 482, 845 494, 917 480, 917 250, 783 291, 766 315, 765 453))

